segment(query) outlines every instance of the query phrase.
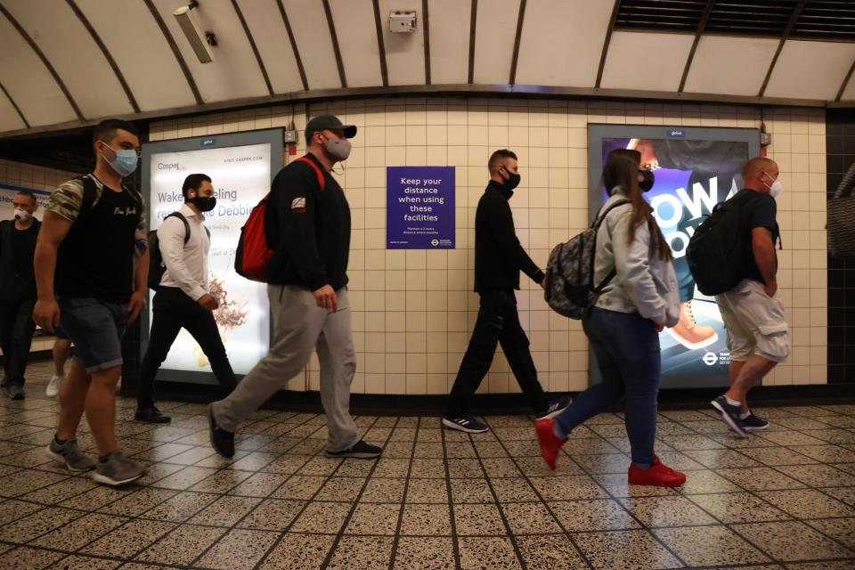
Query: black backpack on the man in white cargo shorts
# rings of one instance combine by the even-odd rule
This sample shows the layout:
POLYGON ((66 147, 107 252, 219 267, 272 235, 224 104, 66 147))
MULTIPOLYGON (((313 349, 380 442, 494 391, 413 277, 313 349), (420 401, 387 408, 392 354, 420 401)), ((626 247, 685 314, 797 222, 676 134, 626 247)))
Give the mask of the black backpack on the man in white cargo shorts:
POLYGON ((752 198, 752 192, 743 192, 716 204, 688 240, 688 270, 704 295, 719 295, 745 279, 750 243, 740 224, 740 212, 752 198))

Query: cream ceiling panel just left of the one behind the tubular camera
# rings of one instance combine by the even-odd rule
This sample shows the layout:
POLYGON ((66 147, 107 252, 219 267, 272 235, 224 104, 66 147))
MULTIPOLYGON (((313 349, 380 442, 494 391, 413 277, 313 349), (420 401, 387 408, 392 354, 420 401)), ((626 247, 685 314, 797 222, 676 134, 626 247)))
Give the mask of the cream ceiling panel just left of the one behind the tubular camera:
POLYGON ((125 77, 141 110, 184 107, 196 102, 157 22, 142 2, 77 0, 125 77), (133 26, 117 22, 133 21, 133 26))

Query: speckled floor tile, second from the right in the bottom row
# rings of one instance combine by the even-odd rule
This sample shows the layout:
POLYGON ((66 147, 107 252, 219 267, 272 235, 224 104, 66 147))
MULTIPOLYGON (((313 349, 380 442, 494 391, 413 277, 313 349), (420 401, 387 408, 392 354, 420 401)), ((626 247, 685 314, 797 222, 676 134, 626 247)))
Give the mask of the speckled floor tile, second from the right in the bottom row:
POLYGON ((689 566, 769 562, 769 557, 728 528, 658 528, 653 533, 689 566))

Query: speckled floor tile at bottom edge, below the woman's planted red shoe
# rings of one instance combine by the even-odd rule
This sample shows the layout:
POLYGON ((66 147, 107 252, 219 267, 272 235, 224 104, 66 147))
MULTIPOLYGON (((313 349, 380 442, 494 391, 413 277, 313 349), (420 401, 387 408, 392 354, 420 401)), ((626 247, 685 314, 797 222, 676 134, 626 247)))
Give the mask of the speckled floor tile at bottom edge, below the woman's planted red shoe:
POLYGON ((597 570, 680 568, 680 560, 647 531, 609 531, 573 535, 574 542, 597 570))

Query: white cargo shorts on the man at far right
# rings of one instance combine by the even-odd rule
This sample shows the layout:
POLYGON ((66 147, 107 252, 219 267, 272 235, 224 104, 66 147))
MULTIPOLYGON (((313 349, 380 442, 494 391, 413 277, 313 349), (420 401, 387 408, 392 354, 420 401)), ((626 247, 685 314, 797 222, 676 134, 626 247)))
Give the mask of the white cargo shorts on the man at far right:
POLYGON ((790 343, 784 305, 778 297, 769 297, 760 281, 740 281, 715 300, 728 330, 731 361, 745 362, 754 354, 771 362, 786 361, 790 343))

